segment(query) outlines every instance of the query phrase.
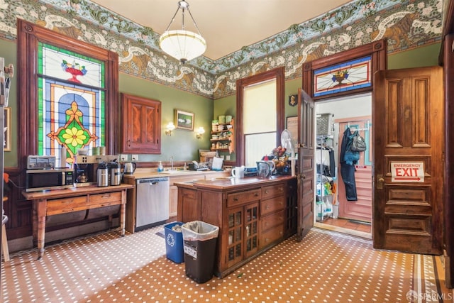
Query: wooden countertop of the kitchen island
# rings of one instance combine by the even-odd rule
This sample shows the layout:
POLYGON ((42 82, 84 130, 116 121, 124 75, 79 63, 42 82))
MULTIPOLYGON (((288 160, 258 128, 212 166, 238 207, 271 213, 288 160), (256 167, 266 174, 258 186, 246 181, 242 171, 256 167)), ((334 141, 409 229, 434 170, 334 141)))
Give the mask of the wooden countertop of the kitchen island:
POLYGON ((250 187, 251 184, 264 185, 267 183, 273 183, 277 181, 291 180, 295 177, 288 175, 274 175, 272 177, 244 177, 236 179, 233 177, 221 177, 214 179, 206 180, 193 180, 187 182, 177 182, 175 185, 177 187, 186 187, 186 188, 200 188, 200 189, 216 189, 216 190, 225 190, 225 189, 240 189, 242 187, 250 187))

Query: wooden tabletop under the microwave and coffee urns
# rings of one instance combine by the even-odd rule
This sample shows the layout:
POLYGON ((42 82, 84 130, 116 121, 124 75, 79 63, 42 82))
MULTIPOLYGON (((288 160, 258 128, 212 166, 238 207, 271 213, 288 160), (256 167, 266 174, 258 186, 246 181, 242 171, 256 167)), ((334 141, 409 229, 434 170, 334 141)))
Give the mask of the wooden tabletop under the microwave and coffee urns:
POLYGON ((84 186, 84 187, 72 187, 68 189, 54 189, 54 190, 46 190, 43 192, 25 192, 23 191, 23 197, 27 200, 35 200, 35 199, 54 199, 54 198, 61 198, 67 197, 68 195, 77 195, 77 194, 100 194, 103 192, 116 192, 122 189, 131 189, 134 188, 132 184, 120 184, 116 186, 106 186, 106 187, 97 187, 93 186, 84 186))

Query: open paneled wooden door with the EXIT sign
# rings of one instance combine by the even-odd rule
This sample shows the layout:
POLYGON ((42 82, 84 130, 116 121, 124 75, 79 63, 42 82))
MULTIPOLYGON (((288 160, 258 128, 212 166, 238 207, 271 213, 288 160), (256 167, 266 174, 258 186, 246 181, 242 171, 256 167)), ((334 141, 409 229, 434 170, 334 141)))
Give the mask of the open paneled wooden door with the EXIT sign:
POLYGON ((441 254, 442 69, 377 72, 373 97, 374 248, 441 254))

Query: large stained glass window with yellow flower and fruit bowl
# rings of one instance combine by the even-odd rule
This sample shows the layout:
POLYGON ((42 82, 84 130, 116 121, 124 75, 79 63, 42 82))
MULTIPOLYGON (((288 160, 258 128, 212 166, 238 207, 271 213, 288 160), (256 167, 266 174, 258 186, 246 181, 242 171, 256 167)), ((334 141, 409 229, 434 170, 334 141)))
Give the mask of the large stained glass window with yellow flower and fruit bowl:
POLYGON ((38 43, 38 155, 105 145, 104 62, 38 43))

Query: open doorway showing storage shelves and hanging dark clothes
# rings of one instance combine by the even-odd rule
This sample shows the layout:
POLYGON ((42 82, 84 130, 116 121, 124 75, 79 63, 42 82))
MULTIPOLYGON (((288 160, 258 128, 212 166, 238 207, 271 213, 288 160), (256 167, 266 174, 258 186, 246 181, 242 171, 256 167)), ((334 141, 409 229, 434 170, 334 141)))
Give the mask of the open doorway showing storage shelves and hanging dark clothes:
POLYGON ((372 238, 372 94, 317 101, 314 226, 372 238), (347 199, 340 153, 344 131, 358 131, 367 149, 354 166, 355 198, 347 199))

